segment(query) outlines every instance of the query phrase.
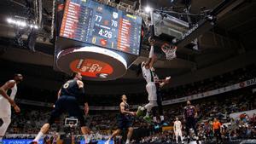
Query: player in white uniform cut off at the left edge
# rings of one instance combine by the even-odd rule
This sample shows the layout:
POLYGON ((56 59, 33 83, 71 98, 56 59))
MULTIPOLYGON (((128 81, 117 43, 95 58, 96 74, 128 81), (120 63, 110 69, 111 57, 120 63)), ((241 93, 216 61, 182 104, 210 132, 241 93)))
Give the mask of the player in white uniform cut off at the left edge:
POLYGON ((0 127, 0 141, 2 141, 6 130, 11 122, 11 106, 15 108, 15 112, 20 112, 20 107, 15 103, 15 95, 17 93, 17 84, 22 81, 21 74, 15 74, 15 78, 9 80, 0 87, 0 118, 3 124, 0 127), (7 95, 7 91, 11 89, 11 94, 7 95))

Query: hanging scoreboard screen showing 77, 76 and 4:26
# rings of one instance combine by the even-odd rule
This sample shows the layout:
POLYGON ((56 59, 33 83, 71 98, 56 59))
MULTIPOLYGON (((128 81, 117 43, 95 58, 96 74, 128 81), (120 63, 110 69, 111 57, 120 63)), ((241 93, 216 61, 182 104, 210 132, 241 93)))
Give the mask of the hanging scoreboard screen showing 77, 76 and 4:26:
POLYGON ((60 36, 139 55, 142 18, 93 0, 67 0, 60 36))

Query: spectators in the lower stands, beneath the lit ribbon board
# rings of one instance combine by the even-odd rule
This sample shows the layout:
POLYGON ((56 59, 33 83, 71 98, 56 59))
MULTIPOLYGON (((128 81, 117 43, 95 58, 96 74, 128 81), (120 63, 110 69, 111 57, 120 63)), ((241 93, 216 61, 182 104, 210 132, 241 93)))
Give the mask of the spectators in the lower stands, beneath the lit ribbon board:
MULTIPOLYGON (((198 112, 197 128, 201 136, 201 140, 212 141, 212 119, 218 118, 223 124, 222 136, 225 141, 231 141, 236 139, 255 139, 256 135, 256 114, 252 117, 246 114, 241 114, 239 118, 230 118, 230 113, 244 112, 247 110, 256 109, 255 93, 253 94, 251 89, 240 89, 227 94, 216 95, 210 98, 192 101, 192 104, 196 107, 198 112)), ((178 117, 183 122, 183 107, 184 104, 176 104, 165 107, 166 122, 172 126, 174 118, 178 117)), ((41 125, 44 124, 49 118, 48 109, 31 108, 21 109, 20 114, 13 114, 12 124, 9 127, 8 134, 37 134, 41 125)), ((102 114, 91 115, 88 124, 90 129, 94 131, 92 140, 106 140, 108 135, 111 134, 111 130, 116 129, 116 112, 103 112, 102 114), (101 135, 101 136, 99 136, 101 135), (103 138, 104 137, 104 138, 103 138)), ((63 118, 65 118, 64 116, 63 118)), ((62 118, 62 119, 63 119, 62 118)), ((56 125, 62 125, 60 121, 56 125)), ((184 124, 183 124, 184 125, 184 124)), ((150 125, 143 122, 142 119, 134 118, 135 128, 149 128, 150 125)), ((49 131, 49 134, 53 134, 54 131, 59 131, 57 126, 53 126, 53 129, 49 131)), ((79 129, 76 130, 77 134, 79 129)), ((184 134, 184 133, 183 133, 184 134)), ((30 138, 29 135, 25 135, 30 138)), ((172 141, 173 131, 167 130, 160 133, 152 133, 152 135, 143 136, 141 143, 147 142, 160 142, 160 141, 172 141)))

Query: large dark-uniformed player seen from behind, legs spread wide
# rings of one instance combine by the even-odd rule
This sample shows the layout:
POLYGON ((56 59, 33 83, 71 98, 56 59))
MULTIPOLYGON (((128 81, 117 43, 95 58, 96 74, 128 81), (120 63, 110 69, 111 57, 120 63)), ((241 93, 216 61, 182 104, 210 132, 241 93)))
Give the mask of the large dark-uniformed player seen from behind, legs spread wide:
MULTIPOLYGON (((73 79, 68 80, 63 84, 58 92, 58 100, 55 102, 55 109, 51 112, 48 123, 44 124, 39 131, 32 144, 37 144, 39 139, 46 134, 51 124, 55 122, 55 118, 59 118, 62 112, 67 111, 69 117, 78 118, 80 122, 81 131, 84 139, 87 140, 86 135, 90 133, 89 129, 85 126, 83 112, 79 107, 79 99, 84 98, 84 83, 81 81, 82 76, 79 72, 73 73, 73 79)), ((84 113, 87 115, 89 106, 87 100, 84 99, 84 113)))

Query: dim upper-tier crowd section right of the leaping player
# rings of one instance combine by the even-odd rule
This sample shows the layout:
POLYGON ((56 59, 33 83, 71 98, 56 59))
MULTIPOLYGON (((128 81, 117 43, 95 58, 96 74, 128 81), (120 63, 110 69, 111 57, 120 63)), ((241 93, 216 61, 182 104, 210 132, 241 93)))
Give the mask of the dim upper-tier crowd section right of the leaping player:
POLYGON ((161 92, 164 100, 168 100, 223 88, 231 84, 237 84, 242 81, 255 78, 255 76, 256 66, 252 65, 247 66, 247 68, 241 68, 233 72, 224 73, 214 78, 204 79, 203 81, 195 82, 193 84, 186 84, 171 89, 162 89, 161 92))

